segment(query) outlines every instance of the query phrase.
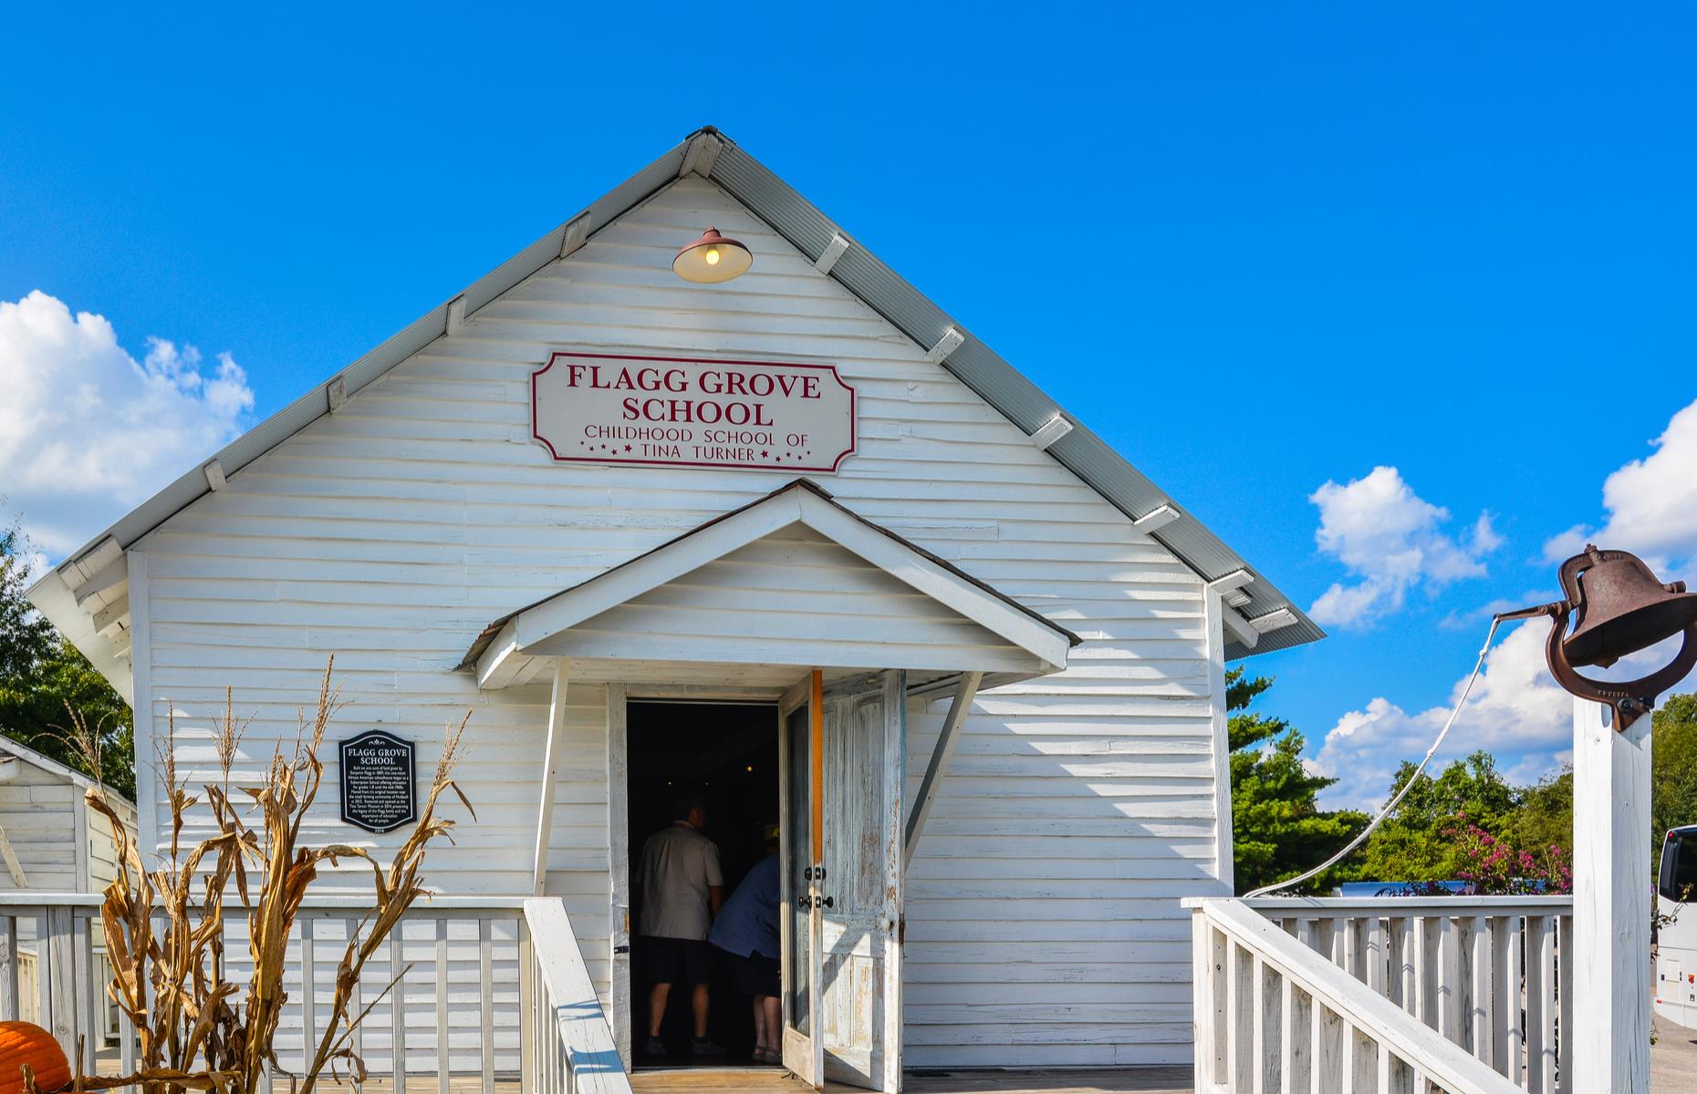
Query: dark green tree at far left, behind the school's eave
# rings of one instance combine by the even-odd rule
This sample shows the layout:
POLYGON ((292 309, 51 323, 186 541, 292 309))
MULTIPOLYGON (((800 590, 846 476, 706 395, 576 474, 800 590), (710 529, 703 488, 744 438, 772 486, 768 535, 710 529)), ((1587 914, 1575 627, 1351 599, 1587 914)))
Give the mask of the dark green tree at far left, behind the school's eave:
POLYGON ((0 733, 95 775, 66 741, 70 706, 100 733, 107 785, 134 797, 129 704, 24 599, 27 580, 29 544, 14 522, 0 533, 0 733))

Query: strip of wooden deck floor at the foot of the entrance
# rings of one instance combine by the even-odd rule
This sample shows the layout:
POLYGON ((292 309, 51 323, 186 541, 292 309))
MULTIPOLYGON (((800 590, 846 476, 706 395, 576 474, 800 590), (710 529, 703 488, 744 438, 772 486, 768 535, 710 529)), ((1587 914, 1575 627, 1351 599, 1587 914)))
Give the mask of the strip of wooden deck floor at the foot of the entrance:
MULTIPOLYGON (((803 1094, 808 1087, 776 1069, 675 1069, 631 1075, 635 1094, 803 1094)), ((826 1091, 854 1091, 828 1084, 826 1091)), ((908 1094, 1191 1094, 1190 1069, 998 1072, 927 1069, 906 1075, 908 1094)))

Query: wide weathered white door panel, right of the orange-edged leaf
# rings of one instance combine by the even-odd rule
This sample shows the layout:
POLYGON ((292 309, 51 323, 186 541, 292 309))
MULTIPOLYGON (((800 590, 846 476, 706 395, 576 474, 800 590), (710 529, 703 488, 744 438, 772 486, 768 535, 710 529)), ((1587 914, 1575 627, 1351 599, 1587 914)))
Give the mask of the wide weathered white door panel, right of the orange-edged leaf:
POLYGON ((825 1077, 901 1089, 901 789, 905 673, 823 695, 825 855, 815 874, 821 967, 815 1024, 825 1077))

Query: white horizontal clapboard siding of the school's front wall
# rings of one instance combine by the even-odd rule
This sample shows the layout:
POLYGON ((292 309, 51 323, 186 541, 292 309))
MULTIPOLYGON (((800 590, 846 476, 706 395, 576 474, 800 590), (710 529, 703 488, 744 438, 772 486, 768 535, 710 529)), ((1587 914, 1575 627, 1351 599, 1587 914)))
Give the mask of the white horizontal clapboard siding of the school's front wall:
MULTIPOLYGON (((562 346, 813 356, 855 387, 860 451, 832 494, 1081 634, 1073 667, 986 692, 911 868, 910 1065, 1183 1062, 1183 896, 1220 892, 1200 580, 923 351, 716 187, 691 178, 597 232, 217 494, 146 551, 153 733, 210 773, 224 687, 251 714, 239 775, 292 741, 336 653, 339 733, 380 726, 433 763, 472 717, 479 821, 433 851, 455 892, 528 892, 546 689, 479 694, 458 663, 490 619, 748 504, 781 472, 555 465, 529 375, 562 346), (716 224, 753 270, 689 287, 667 263, 716 224), (1011 924, 1011 926, 1010 926, 1011 924)), ((1057 346, 1057 353, 1066 348, 1057 346)), ((730 612, 726 612, 730 614, 730 612)), ((728 624, 731 626, 731 624, 728 624)), ((574 689, 548 889, 608 948, 599 690, 574 689)), ((915 709, 923 770, 940 709, 915 709)), ((392 846, 334 821, 312 840, 392 846)), ((450 806, 456 811, 458 806, 450 806)), ((346 884, 358 884, 348 874, 346 884)), ((604 957, 594 965, 606 994, 604 957)))

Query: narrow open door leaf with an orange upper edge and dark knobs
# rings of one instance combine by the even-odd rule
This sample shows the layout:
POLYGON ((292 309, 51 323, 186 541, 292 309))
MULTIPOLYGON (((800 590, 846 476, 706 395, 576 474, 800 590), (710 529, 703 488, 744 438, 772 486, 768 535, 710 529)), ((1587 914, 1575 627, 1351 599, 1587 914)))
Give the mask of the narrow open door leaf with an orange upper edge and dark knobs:
POLYGON ((779 779, 779 862, 782 914, 779 916, 779 945, 782 952, 782 1013, 784 1013, 784 1067, 803 1082, 825 1086, 825 1043, 818 1036, 815 1014, 820 1013, 820 907, 815 906, 813 865, 815 846, 815 784, 813 695, 818 694, 818 673, 811 687, 801 687, 794 697, 786 697, 777 711, 779 779))

